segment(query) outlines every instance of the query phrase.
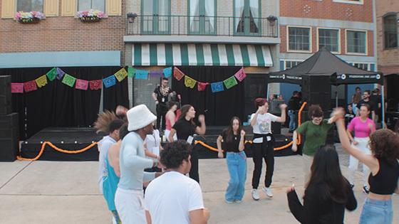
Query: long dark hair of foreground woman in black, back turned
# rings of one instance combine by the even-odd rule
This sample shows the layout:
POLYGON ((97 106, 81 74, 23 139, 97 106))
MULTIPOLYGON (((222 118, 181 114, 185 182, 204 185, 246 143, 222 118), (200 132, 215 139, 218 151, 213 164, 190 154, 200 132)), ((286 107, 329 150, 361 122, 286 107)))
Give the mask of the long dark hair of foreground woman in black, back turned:
POLYGON ((331 198, 336 203, 346 203, 349 185, 342 176, 338 153, 333 145, 321 146, 314 155, 311 178, 308 186, 321 185, 321 197, 331 198))

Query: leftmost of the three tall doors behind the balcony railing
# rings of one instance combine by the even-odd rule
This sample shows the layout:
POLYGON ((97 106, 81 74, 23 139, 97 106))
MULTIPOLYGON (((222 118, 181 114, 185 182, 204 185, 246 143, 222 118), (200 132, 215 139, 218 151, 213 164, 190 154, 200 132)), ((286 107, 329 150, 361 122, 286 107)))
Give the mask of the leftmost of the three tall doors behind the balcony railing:
POLYGON ((142 0, 143 34, 170 34, 170 0, 142 0))

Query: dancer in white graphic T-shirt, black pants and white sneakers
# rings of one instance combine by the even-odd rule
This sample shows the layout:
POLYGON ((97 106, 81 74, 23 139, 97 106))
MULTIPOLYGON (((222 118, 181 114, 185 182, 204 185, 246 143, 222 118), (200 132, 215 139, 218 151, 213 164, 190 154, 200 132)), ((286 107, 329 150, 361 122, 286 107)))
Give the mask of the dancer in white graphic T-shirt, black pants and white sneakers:
POLYGON ((254 139, 252 140, 252 159, 254 161, 254 174, 252 176, 252 198, 255 201, 259 200, 259 180, 261 178, 261 169, 263 159, 266 162, 266 176, 264 178, 264 187, 262 191, 266 193, 269 198, 273 197, 271 193, 271 180, 274 172, 274 136, 271 133, 271 122, 286 121, 286 107, 287 105, 280 105, 281 117, 267 112, 269 103, 265 98, 257 98, 254 101, 257 107, 257 112, 251 115, 251 126, 254 132, 254 139))

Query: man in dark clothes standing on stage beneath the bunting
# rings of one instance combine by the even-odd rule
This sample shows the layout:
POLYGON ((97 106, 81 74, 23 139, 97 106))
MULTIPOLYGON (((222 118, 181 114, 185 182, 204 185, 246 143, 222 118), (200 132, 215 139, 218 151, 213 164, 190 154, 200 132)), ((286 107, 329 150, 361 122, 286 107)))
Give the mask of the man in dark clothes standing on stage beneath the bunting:
POLYGON ((157 85, 154 92, 152 92, 152 99, 155 101, 157 110, 157 129, 160 132, 165 130, 165 114, 167 112, 167 101, 169 100, 169 95, 172 92, 168 86, 169 80, 167 78, 162 78, 161 85, 157 85))

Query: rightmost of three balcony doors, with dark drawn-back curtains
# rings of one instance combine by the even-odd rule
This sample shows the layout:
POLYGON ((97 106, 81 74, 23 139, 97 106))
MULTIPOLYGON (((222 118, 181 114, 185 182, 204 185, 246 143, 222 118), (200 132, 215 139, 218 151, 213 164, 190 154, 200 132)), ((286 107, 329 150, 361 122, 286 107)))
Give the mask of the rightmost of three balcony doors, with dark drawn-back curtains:
POLYGON ((259 0, 234 0, 234 33, 244 36, 259 35, 260 14, 259 0))

